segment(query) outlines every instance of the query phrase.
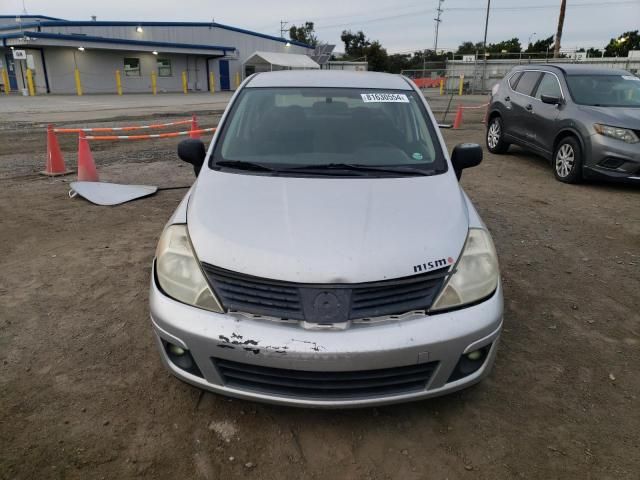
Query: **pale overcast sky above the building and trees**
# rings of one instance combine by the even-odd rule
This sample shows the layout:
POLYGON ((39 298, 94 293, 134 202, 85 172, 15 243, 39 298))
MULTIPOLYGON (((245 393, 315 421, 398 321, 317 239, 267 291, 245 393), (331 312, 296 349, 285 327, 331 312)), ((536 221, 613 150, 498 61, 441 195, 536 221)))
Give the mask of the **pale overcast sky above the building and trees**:
MULTIPOLYGON (((340 32, 363 30, 390 53, 433 48, 438 0, 25 0, 29 14, 70 20, 210 21, 279 35, 280 20, 315 22, 320 40, 338 44, 340 32)), ((563 47, 602 47, 640 27, 640 0, 568 0, 563 47)), ((554 34, 560 0, 492 0, 488 42, 554 34)), ((482 41, 485 0, 444 0, 439 48, 482 41)), ((0 0, 0 15, 23 10, 22 0, 0 0)))

